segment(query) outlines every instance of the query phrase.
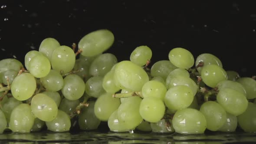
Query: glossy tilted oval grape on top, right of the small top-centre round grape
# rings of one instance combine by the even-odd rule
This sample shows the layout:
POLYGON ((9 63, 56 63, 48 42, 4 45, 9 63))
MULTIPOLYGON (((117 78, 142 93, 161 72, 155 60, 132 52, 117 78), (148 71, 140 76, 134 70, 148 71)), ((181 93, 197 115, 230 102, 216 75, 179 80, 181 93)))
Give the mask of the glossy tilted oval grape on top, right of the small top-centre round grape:
POLYGON ((181 69, 189 69, 194 65, 194 57, 187 49, 174 48, 168 57, 173 65, 181 69))

